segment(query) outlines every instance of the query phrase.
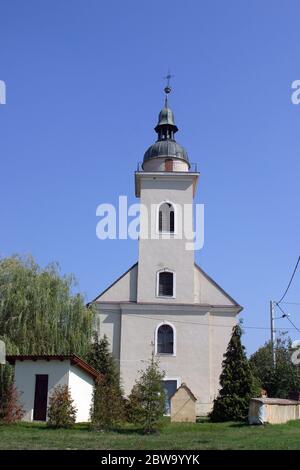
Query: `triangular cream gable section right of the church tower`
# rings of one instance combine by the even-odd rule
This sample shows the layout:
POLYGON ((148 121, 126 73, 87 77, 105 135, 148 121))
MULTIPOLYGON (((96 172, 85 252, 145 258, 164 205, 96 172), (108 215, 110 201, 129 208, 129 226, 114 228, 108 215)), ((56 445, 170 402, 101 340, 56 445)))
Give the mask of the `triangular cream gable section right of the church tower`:
POLYGON ((211 277, 195 263, 195 303, 239 307, 239 304, 225 292, 211 277))

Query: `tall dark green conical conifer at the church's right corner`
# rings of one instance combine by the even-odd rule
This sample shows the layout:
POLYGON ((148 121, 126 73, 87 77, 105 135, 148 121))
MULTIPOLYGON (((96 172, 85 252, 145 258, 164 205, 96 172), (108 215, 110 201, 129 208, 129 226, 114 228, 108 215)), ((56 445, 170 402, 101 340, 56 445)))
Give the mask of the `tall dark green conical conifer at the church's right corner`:
POLYGON ((254 380, 241 336, 241 327, 236 325, 224 355, 221 389, 210 414, 212 421, 241 421, 247 418, 254 380))

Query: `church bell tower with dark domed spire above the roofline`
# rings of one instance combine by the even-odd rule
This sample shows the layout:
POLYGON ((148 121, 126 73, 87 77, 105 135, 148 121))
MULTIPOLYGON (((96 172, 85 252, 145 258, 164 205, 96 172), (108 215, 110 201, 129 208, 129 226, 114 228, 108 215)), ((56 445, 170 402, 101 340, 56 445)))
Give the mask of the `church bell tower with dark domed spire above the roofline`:
POLYGON ((176 142, 178 128, 168 104, 155 127, 156 142, 135 173, 140 198, 137 302, 194 303, 193 199, 199 173, 176 142))

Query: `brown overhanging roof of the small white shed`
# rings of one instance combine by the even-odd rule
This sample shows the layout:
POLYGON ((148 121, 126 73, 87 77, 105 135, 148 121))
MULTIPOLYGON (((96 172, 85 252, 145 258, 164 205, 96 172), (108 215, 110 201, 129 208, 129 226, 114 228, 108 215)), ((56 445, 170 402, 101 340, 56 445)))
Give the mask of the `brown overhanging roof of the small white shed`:
POLYGON ((85 362, 81 357, 76 356, 75 354, 64 355, 64 354, 20 354, 20 355, 7 355, 7 362, 9 364, 15 364, 16 361, 67 361, 69 360, 71 365, 78 367, 87 374, 89 374, 93 379, 99 379, 101 374, 96 371, 92 366, 85 362))

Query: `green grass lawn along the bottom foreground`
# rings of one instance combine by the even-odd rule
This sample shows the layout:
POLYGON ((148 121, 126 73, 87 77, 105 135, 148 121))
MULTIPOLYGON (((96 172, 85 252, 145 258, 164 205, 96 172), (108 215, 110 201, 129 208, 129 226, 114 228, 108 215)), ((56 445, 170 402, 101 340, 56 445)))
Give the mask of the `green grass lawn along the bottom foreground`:
POLYGON ((300 449, 300 420, 287 424, 248 426, 244 423, 171 424, 145 436, 132 425, 111 432, 92 432, 78 424, 70 430, 44 424, 0 426, 0 449, 300 449))

